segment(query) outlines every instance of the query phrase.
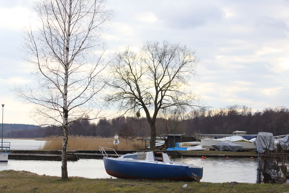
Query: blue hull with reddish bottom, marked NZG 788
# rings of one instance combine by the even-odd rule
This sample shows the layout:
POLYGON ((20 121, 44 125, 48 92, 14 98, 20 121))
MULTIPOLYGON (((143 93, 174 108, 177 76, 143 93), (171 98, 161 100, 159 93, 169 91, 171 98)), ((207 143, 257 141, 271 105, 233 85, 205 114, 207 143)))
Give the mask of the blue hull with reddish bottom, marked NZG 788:
POLYGON ((142 162, 117 160, 103 157, 106 172, 117 178, 124 179, 168 179, 193 181, 192 173, 203 177, 203 168, 192 168, 173 164, 173 162, 142 162))

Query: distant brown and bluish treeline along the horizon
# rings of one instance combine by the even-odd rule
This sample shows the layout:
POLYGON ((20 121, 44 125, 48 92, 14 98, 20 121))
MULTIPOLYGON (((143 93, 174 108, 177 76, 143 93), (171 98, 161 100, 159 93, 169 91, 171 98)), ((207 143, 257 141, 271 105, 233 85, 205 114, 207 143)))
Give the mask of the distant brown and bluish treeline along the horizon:
MULTIPOLYGON (((247 134, 270 132, 276 135, 289 133, 289 109, 286 107, 267 108, 252 113, 247 106, 228 106, 226 109, 199 109, 188 114, 160 113, 156 121, 158 135, 162 134, 232 134, 236 130, 247 134)), ((115 134, 124 138, 150 136, 146 118, 114 117, 100 119, 97 124, 88 120, 71 124, 69 135, 112 137, 115 134)), ((37 127, 25 124, 4 124, 3 137, 35 138, 62 135, 58 127, 37 127)))

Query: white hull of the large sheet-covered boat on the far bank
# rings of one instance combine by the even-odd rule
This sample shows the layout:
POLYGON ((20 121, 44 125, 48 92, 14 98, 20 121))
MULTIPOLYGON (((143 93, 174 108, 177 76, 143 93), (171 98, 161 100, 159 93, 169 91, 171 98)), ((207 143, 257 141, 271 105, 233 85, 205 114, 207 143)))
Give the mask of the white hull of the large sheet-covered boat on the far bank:
MULTIPOLYGON (((201 144, 203 148, 213 148, 212 145, 222 142, 216 139, 201 139, 201 144)), ((256 150, 256 144, 252 142, 240 142, 240 141, 230 141, 233 144, 243 146, 242 151, 256 150)))

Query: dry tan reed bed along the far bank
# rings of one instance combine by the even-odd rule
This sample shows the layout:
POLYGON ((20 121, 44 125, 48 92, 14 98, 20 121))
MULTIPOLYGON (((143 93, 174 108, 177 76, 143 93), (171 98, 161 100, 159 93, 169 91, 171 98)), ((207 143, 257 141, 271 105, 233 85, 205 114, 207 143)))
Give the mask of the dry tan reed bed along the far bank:
MULTIPOLYGON (((113 148, 117 150, 139 150, 144 148, 142 141, 135 139, 119 139, 119 144, 114 145, 114 137, 93 137, 93 136, 68 136, 67 150, 98 150, 98 146, 113 148)), ((50 136, 45 138, 45 145, 42 150, 61 150, 62 136, 50 136)))

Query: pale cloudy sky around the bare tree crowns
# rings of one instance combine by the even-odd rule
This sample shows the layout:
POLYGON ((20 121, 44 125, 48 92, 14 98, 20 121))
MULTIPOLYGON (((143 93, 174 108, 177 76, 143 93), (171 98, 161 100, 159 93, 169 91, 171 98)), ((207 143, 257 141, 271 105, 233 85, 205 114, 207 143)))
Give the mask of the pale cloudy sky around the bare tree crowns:
MULTIPOLYGON (((254 111, 289 107, 289 1, 108 0, 115 17, 108 49, 146 41, 187 45, 200 59, 190 90, 212 109, 246 105, 254 111)), ((0 1, 0 103, 4 123, 35 124, 32 106, 10 91, 29 84, 32 66, 22 59, 22 29, 33 1, 0 1)))

